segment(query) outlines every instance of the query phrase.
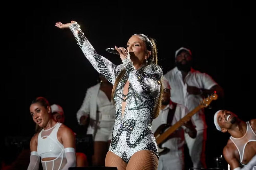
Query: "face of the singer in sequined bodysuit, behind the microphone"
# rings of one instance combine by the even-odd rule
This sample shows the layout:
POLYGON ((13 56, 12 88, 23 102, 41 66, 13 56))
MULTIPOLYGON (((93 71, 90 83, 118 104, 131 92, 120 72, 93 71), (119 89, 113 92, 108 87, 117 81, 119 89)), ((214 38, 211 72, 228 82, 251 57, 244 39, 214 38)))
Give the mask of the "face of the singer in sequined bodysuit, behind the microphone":
POLYGON ((145 57, 148 56, 148 53, 146 53, 146 45, 138 35, 131 36, 127 43, 127 50, 130 53, 130 59, 133 64, 142 64, 145 57))

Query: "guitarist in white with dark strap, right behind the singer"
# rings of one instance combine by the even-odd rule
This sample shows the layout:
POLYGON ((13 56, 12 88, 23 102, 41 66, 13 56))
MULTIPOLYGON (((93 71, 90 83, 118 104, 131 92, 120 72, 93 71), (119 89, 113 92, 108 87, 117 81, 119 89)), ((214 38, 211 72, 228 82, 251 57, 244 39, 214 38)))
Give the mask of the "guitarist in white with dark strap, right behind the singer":
MULTIPOLYGON (((182 119, 189 111, 185 106, 174 103, 170 100, 170 86, 164 81, 164 92, 161 111, 156 119, 152 122, 152 132, 155 133, 162 124, 175 124, 182 119)), ((158 170, 184 170, 184 132, 191 138, 195 138, 197 131, 191 120, 184 126, 178 128, 172 133, 162 146, 169 149, 166 154, 159 153, 158 170), (185 127, 184 127, 185 126, 185 127), (184 130, 185 129, 185 130, 184 130)))

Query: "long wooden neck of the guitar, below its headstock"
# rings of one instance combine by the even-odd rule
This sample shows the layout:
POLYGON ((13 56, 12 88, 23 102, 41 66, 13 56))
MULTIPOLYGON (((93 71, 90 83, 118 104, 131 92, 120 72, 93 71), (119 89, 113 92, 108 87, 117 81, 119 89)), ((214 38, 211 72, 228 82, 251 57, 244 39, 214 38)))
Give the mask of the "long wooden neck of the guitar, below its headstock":
POLYGON ((191 117, 198 112, 202 107, 199 105, 194 110, 189 112, 186 116, 176 122, 174 125, 169 127, 164 133, 162 133, 158 138, 156 138, 156 143, 159 145, 162 143, 170 134, 172 134, 176 129, 183 125, 183 122, 186 122, 191 119, 191 117))

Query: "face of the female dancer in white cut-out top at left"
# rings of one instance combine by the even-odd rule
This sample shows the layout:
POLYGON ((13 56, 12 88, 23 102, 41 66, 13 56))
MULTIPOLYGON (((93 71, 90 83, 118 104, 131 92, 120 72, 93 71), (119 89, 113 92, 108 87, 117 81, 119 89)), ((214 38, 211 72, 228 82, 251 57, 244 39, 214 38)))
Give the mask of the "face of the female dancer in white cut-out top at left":
POLYGON ((45 127, 50 117, 50 108, 45 108, 44 106, 41 106, 40 103, 33 103, 31 104, 30 108, 30 115, 33 118, 33 121, 38 124, 40 127, 45 127))

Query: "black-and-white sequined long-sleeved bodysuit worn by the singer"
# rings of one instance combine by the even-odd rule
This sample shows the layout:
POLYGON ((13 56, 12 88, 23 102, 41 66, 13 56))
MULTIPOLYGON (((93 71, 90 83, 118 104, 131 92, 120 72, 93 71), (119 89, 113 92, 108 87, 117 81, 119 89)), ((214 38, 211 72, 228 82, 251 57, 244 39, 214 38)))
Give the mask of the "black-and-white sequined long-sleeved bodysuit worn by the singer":
POLYGON ((126 163, 140 150, 151 150, 158 158, 158 147, 151 124, 159 99, 162 69, 157 65, 143 65, 135 70, 130 59, 115 65, 97 54, 77 23, 69 28, 86 58, 109 82, 114 84, 116 77, 125 69, 125 74, 114 92, 115 123, 109 150, 126 163), (127 95, 124 95, 123 88, 127 80, 130 84, 127 95), (123 116, 122 101, 126 101, 123 116))

